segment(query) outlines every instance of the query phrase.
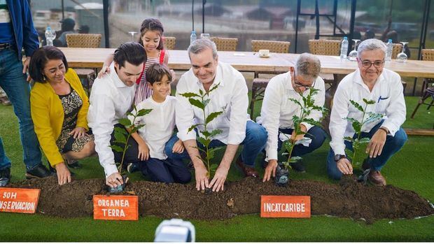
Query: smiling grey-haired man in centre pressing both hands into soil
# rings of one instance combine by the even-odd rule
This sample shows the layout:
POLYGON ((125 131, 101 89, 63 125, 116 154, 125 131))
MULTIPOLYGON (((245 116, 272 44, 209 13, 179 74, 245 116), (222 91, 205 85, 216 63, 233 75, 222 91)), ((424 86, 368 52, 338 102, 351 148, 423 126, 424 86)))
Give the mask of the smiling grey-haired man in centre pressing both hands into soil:
MULTIPOLYGON (((172 159, 182 159, 190 156, 195 166, 197 190, 212 188, 213 191, 223 190, 230 164, 235 157, 238 146, 244 145, 237 165, 246 176, 258 177, 255 171, 255 159, 267 142, 267 131, 248 120, 248 90, 246 80, 229 64, 218 62, 216 44, 207 39, 198 39, 188 48, 192 69, 184 73, 176 87, 176 126, 177 136, 183 141, 186 152, 173 153, 172 148, 178 137, 174 136, 166 145, 166 154, 172 159), (203 124, 203 113, 188 102, 180 94, 199 90, 208 92, 216 85, 218 87, 209 94, 207 111, 209 113, 223 110, 221 115, 207 125, 207 130, 221 129, 223 132, 214 136, 210 147, 226 146, 223 159, 216 170, 214 178, 209 182, 207 168, 200 160, 197 150, 195 131, 188 132, 193 124, 203 124)), ((199 127, 202 130, 203 126, 199 127)))

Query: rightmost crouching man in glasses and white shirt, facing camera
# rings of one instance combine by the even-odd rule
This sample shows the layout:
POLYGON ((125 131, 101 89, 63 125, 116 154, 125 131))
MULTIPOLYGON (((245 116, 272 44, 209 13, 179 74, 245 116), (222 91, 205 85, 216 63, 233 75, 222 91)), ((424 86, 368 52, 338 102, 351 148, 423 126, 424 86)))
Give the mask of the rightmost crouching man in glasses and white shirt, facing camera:
POLYGON ((345 148, 352 150, 344 136, 355 136, 351 123, 345 117, 361 120, 363 113, 351 105, 350 100, 364 106, 363 99, 376 103, 367 106, 367 112, 381 113, 382 119, 363 125, 362 137, 370 138, 367 159, 363 169, 370 168, 368 180, 374 185, 386 185, 381 168, 402 148, 407 135, 401 128, 405 122, 403 87, 398 73, 384 69, 386 45, 377 39, 367 39, 358 45, 358 69, 345 76, 337 87, 330 115, 330 152, 327 173, 330 178, 340 179, 342 174, 352 174, 353 166, 346 158, 345 148))

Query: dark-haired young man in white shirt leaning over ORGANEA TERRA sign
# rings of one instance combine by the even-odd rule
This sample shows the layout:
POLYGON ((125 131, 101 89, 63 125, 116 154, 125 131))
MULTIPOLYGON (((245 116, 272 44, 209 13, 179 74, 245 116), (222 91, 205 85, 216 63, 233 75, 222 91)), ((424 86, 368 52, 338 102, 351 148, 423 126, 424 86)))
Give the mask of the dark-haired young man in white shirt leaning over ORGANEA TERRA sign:
MULTIPOLYGON (((146 62, 146 53, 139 43, 123 43, 116 49, 111 64, 111 72, 103 78, 97 78, 90 93, 90 107, 87 113, 87 122, 95 136, 95 150, 98 153, 99 163, 104 167, 106 184, 109 187, 118 187, 123 179, 115 162, 120 163, 122 154, 113 153, 114 127, 125 129, 118 124, 125 113, 132 110, 132 102, 136 91, 136 80, 143 71, 146 62)), ((124 165, 129 162, 138 162, 137 143, 129 140, 131 145, 125 155, 124 165)))

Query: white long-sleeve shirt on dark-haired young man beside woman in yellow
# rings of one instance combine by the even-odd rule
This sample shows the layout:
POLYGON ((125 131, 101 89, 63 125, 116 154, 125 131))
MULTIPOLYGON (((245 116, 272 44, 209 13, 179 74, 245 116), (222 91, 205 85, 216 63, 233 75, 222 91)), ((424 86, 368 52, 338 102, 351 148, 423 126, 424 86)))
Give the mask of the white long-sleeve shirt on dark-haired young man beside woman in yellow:
POLYGON ((115 157, 110 145, 111 133, 115 124, 125 113, 131 110, 136 85, 128 87, 120 80, 113 63, 111 73, 103 78, 97 78, 90 93, 90 107, 87 112, 87 123, 95 136, 95 150, 99 163, 104 167, 106 177, 118 173, 115 157))

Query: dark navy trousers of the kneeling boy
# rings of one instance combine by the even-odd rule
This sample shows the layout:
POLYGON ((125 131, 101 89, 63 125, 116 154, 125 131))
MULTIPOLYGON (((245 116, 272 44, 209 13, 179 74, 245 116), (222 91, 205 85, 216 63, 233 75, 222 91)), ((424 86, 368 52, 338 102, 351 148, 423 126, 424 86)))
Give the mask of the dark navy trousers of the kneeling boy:
POLYGON ((186 184, 191 180, 191 173, 181 160, 150 157, 146 161, 139 162, 139 168, 141 173, 148 175, 155 182, 186 184))

